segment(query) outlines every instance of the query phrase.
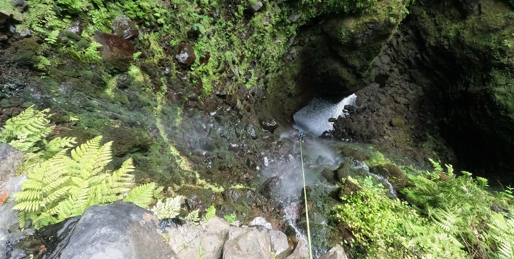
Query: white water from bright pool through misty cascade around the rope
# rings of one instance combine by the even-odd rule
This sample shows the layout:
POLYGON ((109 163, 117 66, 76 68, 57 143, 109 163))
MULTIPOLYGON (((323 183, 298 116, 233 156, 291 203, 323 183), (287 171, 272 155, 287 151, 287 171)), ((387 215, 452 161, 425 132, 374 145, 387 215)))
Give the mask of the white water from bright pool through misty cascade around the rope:
MULTIPOLYGON (((346 104, 354 104, 356 95, 351 95, 340 102, 334 102, 324 97, 316 97, 300 109, 293 118, 295 119, 295 127, 298 130, 309 132, 306 135, 305 142, 302 143, 303 162, 305 169, 305 184, 318 191, 324 193, 333 192, 336 186, 327 183, 321 176, 321 170, 324 168, 336 169, 341 160, 340 157, 332 149, 332 141, 317 138, 324 131, 333 130, 333 123, 329 122, 329 118, 337 118, 344 116, 343 107, 346 104), (315 135, 311 137, 309 135, 315 135), (323 159, 318 159, 321 156, 323 159), (319 162, 322 161, 322 162, 319 162)), ((269 166, 263 170, 264 177, 278 176, 282 182, 282 188, 279 190, 277 200, 280 201, 284 211, 284 220, 289 226, 295 230, 296 236, 307 244, 307 233, 303 226, 298 225, 299 218, 303 215, 303 177, 302 177, 302 161, 300 158, 300 143, 298 142, 298 131, 291 130, 281 135, 282 139, 292 141, 293 150, 291 154, 284 156, 282 161, 270 161, 269 166)), ((354 167, 362 168, 378 182, 389 188, 393 197, 397 194, 391 183, 384 177, 370 172, 368 166, 362 161, 355 161, 354 167)), ((313 222, 310 220, 311 238, 313 239, 313 254, 315 257, 326 252, 323 247, 326 229, 326 220, 323 222, 313 222), (321 229, 322 228, 322 229, 321 229), (314 230, 314 231, 313 231, 314 230), (315 239, 318 241, 315 244, 315 239)))

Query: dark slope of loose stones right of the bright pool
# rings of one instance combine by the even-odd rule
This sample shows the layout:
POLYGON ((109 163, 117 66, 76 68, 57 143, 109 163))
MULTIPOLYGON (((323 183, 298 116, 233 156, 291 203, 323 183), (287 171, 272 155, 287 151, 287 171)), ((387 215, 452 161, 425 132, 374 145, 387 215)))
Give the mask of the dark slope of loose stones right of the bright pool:
POLYGON ((346 107, 349 115, 334 122, 334 131, 325 137, 343 141, 389 145, 409 154, 419 166, 437 152, 455 163, 455 156, 438 132, 432 97, 401 73, 392 48, 375 62, 375 83, 359 90, 356 107, 346 107), (354 109, 350 109, 354 108, 354 109))

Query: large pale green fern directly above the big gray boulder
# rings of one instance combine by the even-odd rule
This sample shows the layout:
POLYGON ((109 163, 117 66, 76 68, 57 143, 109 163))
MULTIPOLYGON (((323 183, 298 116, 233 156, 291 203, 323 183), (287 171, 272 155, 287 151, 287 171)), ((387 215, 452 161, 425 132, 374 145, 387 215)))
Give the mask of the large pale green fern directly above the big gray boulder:
POLYGON ((131 159, 114 172, 106 170, 112 161, 112 142, 100 145, 101 139, 99 136, 76 147, 71 150, 71 157, 69 149, 64 149, 28 173, 22 191, 14 194, 14 209, 20 211, 21 224, 30 219, 35 228, 40 228, 80 215, 91 205, 107 204, 125 196, 126 200, 148 206, 155 183, 132 190, 131 159))

